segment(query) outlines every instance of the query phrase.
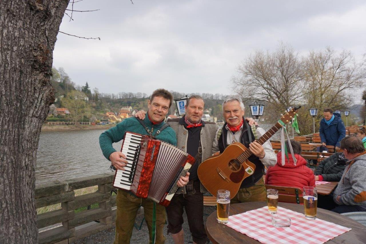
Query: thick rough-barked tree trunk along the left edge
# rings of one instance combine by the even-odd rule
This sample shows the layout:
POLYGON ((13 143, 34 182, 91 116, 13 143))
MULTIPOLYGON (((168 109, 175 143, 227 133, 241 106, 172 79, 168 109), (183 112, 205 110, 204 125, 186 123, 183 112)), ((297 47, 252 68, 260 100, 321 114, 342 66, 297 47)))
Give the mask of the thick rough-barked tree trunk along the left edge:
POLYGON ((68 0, 0 0, 0 243, 38 243, 38 139, 53 48, 68 0))

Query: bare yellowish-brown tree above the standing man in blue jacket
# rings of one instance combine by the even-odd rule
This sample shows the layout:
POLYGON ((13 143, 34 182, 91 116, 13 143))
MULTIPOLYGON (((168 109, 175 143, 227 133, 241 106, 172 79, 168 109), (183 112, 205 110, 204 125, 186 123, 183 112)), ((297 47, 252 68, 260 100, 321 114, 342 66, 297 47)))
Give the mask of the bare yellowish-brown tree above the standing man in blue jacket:
POLYGON ((333 49, 311 51, 305 59, 306 103, 320 110, 346 108, 349 91, 361 87, 366 78, 363 63, 356 63, 349 51, 337 54, 333 49))

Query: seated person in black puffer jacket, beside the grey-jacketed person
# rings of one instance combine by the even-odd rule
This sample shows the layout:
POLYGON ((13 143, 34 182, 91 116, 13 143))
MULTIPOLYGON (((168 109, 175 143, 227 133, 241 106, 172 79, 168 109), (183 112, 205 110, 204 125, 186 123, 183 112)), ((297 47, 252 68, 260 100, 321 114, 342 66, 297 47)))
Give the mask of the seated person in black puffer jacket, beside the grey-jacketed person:
POLYGON ((320 162, 315 169, 315 181, 339 181, 342 177, 347 159, 343 152, 336 152, 320 162))

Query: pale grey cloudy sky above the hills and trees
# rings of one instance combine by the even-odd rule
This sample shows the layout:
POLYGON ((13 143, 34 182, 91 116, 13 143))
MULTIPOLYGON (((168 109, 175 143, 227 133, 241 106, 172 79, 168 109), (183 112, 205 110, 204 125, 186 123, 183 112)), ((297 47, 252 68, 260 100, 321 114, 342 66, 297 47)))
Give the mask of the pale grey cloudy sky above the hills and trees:
MULTIPOLYGON (((330 46, 366 53, 366 1, 83 0, 64 17, 53 66, 104 93, 231 94, 230 78, 256 50, 279 42, 300 54, 330 46)), ((69 6, 68 8, 71 8, 69 6)), ((67 11, 68 12, 68 11, 67 11)))

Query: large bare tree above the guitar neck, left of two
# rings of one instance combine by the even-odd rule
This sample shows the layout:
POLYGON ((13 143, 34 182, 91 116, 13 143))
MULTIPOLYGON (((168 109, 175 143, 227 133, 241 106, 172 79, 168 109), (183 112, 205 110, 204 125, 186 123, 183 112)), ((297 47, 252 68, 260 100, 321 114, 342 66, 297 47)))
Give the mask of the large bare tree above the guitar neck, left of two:
POLYGON ((257 51, 238 66, 232 78, 233 90, 244 100, 264 100, 285 108, 303 97, 302 63, 288 45, 280 44, 273 52, 257 51))

